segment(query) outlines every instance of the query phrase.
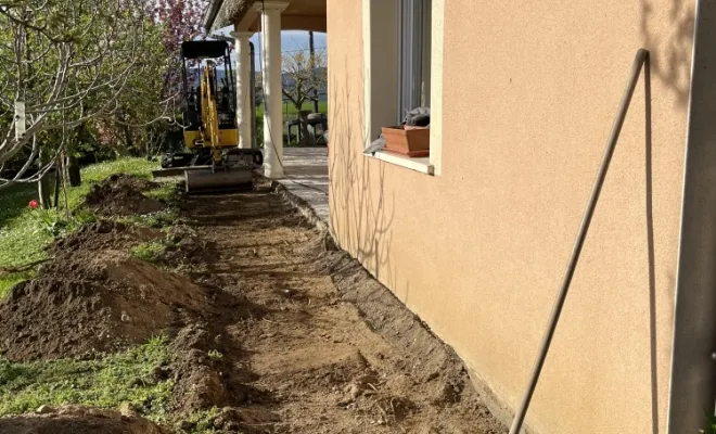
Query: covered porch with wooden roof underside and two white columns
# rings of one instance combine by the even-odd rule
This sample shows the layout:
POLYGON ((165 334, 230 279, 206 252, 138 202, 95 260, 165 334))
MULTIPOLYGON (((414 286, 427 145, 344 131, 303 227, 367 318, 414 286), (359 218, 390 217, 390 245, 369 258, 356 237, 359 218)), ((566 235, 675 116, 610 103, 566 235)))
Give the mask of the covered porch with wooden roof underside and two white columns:
POLYGON ((204 27, 213 31, 233 25, 236 47, 236 117, 239 146, 251 148, 251 48, 248 39, 261 33, 264 76, 264 166, 271 179, 284 177, 281 30, 325 31, 325 0, 212 0, 204 27))

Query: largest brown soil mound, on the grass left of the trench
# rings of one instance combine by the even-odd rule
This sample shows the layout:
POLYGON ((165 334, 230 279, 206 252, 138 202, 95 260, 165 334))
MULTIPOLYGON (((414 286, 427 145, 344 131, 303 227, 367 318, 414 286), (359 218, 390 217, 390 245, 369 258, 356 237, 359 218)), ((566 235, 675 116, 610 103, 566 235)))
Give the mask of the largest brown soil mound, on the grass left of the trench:
POLYGON ((86 357, 171 333, 201 316, 206 291, 129 257, 151 230, 99 222, 60 241, 37 278, 0 302, 0 352, 13 361, 86 357))

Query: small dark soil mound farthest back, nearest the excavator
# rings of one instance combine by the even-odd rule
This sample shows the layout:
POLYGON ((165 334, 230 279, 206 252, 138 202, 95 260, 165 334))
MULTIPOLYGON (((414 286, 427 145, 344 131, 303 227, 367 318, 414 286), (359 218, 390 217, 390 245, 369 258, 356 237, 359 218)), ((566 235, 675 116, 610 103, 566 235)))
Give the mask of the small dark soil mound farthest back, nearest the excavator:
POLYGON ((156 213, 164 208, 164 204, 145 196, 142 192, 157 187, 158 183, 146 179, 130 175, 113 175, 92 187, 85 197, 85 205, 101 216, 156 213))

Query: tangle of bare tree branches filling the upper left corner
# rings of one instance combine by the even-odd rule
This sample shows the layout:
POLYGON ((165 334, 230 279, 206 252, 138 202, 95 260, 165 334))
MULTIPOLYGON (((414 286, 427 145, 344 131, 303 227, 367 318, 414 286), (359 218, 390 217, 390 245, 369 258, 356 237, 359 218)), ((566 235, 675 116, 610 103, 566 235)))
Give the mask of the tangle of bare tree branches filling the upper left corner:
MULTIPOLYGON (((0 0, 0 165, 29 152, 0 189, 33 182, 53 162, 25 177, 50 146, 65 148, 65 131, 118 110, 127 84, 141 73, 150 0, 0 0), (15 137, 15 100, 26 106, 26 129, 15 137), (62 141, 40 136, 62 130, 62 141), (26 151, 23 151, 26 150, 26 151)), ((168 105, 168 104, 165 104, 168 105)), ((162 111, 162 116, 166 108, 162 111)))

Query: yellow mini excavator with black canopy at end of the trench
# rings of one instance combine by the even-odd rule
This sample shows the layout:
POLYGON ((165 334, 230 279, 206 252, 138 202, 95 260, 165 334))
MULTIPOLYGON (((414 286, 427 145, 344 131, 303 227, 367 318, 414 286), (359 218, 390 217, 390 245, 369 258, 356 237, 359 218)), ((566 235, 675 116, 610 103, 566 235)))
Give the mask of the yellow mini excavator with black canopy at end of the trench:
POLYGON ((251 189, 264 165, 257 149, 240 149, 236 94, 229 44, 184 41, 181 44, 184 86, 184 146, 167 154, 162 167, 186 168, 187 193, 251 189))

